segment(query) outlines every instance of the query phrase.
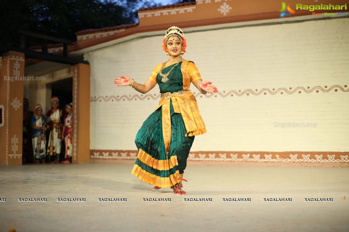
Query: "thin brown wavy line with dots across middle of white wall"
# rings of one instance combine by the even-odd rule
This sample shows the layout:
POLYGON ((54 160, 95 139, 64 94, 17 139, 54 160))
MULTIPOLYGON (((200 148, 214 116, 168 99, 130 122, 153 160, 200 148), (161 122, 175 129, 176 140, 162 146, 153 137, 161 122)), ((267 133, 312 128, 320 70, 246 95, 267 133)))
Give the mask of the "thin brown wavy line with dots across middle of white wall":
MULTIPOLYGON (((347 85, 344 85, 344 88, 347 88, 347 87, 348 87, 347 85)), ((221 97, 229 97, 229 96, 231 96, 231 97, 232 96, 241 97, 243 95, 247 95, 248 96, 250 94, 255 95, 255 96, 261 95, 261 94, 266 95, 267 93, 269 93, 271 95, 276 95, 277 93, 280 93, 280 94, 283 94, 283 93, 294 94, 294 93, 297 92, 298 94, 300 94, 300 93, 302 93, 302 91, 304 93, 311 93, 313 91, 316 91, 316 93, 319 93, 319 91, 321 91, 323 93, 328 93, 329 91, 331 91, 333 89, 334 89, 335 92, 337 92, 338 90, 341 90, 342 92, 348 92, 349 91, 349 88, 348 89, 344 89, 344 88, 342 86, 340 86, 340 85, 334 85, 334 86, 331 86, 331 87, 325 86, 325 88, 322 88, 321 86, 315 86, 313 88, 310 88, 309 86, 307 88, 299 86, 299 87, 297 87, 295 89, 292 89, 290 87, 290 88, 279 88, 277 90, 275 90, 275 89, 270 90, 268 88, 263 88, 263 89, 261 89, 259 91, 258 91, 258 89, 256 89, 256 90, 245 89, 243 91, 241 91, 241 90, 238 90, 238 91, 230 90, 227 93, 225 91, 223 91, 223 92, 218 92, 217 94, 220 95, 221 97)), ((202 95, 199 92, 194 94, 194 96, 196 98, 198 96, 212 97, 214 95, 217 96, 216 94, 202 95)), ((125 101, 125 100, 132 101, 135 98, 140 99, 140 100, 145 100, 145 99, 149 100, 151 98, 151 99, 155 100, 155 99, 159 99, 160 98, 160 94, 145 94, 145 95, 144 94, 140 94, 140 95, 139 94, 135 94, 135 95, 117 95, 117 96, 112 95, 112 96, 109 96, 109 97, 108 96, 105 96, 105 97, 104 96, 98 96, 98 97, 95 96, 95 97, 91 97, 91 102, 98 102, 98 101, 101 102, 102 100, 104 102, 109 102, 110 100, 111 101, 115 100, 117 102, 119 102, 121 100, 123 100, 123 101, 125 101)))

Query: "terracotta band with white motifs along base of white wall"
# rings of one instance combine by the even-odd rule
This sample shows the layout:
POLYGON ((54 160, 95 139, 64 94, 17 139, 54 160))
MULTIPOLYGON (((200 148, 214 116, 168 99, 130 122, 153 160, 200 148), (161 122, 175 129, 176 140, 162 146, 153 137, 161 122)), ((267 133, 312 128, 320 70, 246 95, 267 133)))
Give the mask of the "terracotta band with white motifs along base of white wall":
MULTIPOLYGON (((90 150, 91 159, 136 159, 137 151, 103 151, 103 150, 90 150), (111 153, 111 155, 109 155, 111 153)), ((262 153, 262 152, 260 152, 262 153)), ((235 161, 235 162, 331 162, 331 163, 349 163, 348 154, 344 152, 324 152, 330 154, 321 154, 321 152, 316 152, 318 154, 311 154, 315 152, 297 152, 304 154, 244 154, 237 152, 225 152, 225 153, 189 153, 188 160, 193 161, 235 161), (230 154, 229 154, 230 153, 230 154), (337 153, 337 154, 334 154, 337 153), (287 158, 284 158, 287 156, 287 158), (273 158, 275 157, 275 158, 273 158), (298 158, 299 157, 299 158, 298 158), (327 158, 326 158, 327 157, 327 158), (337 158, 336 158, 337 157, 337 158)))

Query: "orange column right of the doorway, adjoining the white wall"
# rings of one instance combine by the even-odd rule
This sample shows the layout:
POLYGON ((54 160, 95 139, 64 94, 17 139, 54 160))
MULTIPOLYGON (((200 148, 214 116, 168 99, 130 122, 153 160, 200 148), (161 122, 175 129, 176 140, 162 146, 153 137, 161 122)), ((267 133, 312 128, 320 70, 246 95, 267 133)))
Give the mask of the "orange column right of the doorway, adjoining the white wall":
POLYGON ((90 162, 90 65, 73 66, 73 163, 90 162))

